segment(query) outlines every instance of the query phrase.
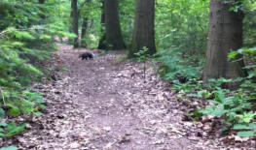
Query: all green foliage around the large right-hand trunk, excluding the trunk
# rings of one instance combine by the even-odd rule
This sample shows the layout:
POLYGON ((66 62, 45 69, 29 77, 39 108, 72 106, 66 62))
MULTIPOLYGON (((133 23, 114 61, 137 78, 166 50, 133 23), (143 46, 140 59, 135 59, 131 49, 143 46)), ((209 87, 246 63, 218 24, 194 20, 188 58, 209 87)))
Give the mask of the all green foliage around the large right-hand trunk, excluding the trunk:
MULTIPOLYGON (((210 79, 207 85, 201 85, 201 56, 206 49, 208 2, 164 0, 156 3, 156 42, 159 49, 165 49, 158 52, 159 74, 165 80, 172 80, 172 89, 179 91, 178 99, 214 99, 210 101, 211 105, 194 111, 192 115, 201 117, 203 113, 218 116, 223 119, 227 128, 234 127, 238 130, 238 135, 254 135, 255 112, 251 112, 251 106, 256 98, 255 48, 242 48, 229 54, 230 59, 235 61, 240 61, 238 58, 242 54, 250 56, 254 64, 244 68, 249 71, 247 77, 235 80, 210 79), (232 92, 222 88, 223 84, 235 81, 241 82, 238 91, 232 92), (238 124, 242 125, 239 129, 238 124)), ((255 46, 255 1, 226 2, 234 5, 231 11, 244 12, 243 42, 246 46, 255 46)))

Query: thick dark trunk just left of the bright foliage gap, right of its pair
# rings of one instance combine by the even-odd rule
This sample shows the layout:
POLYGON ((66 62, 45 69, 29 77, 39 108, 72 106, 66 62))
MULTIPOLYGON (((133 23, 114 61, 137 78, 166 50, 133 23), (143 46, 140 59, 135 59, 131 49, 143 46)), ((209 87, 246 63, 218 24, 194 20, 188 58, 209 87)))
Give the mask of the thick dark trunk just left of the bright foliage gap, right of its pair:
POLYGON ((131 49, 128 57, 143 46, 148 48, 148 54, 157 52, 155 45, 155 0, 136 0, 135 21, 132 33, 131 49))

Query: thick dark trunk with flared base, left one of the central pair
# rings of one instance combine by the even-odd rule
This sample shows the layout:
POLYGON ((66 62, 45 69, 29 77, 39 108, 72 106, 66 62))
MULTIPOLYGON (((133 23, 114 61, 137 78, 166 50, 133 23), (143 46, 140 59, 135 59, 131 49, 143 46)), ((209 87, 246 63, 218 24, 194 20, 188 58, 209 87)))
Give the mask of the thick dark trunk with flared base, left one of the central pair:
POLYGON ((104 0, 106 42, 108 49, 126 48, 119 21, 118 0, 104 0))

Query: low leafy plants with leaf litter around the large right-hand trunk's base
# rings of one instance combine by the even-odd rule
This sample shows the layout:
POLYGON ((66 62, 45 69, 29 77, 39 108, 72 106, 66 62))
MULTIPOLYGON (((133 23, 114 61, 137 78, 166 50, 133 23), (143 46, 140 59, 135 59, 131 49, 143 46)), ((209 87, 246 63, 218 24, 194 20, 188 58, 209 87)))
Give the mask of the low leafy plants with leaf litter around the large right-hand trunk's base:
MULTIPOLYGON (((239 54, 255 53, 255 48, 238 49, 229 54, 232 61, 239 54)), ((181 53, 162 50, 157 61, 160 63, 159 74, 170 80, 171 88, 177 90, 177 100, 194 105, 188 100, 197 99, 200 105, 187 110, 185 120, 201 122, 203 131, 228 143, 241 142, 253 145, 256 135, 255 120, 255 65, 247 65, 246 77, 237 79, 210 79, 208 84, 201 81, 201 61, 182 58, 181 53), (174 54, 173 54, 174 53, 174 54), (225 84, 240 82, 238 90, 225 88, 225 84)), ((251 57, 255 61, 255 58, 251 57)), ((207 134, 207 135, 208 135, 207 134)))

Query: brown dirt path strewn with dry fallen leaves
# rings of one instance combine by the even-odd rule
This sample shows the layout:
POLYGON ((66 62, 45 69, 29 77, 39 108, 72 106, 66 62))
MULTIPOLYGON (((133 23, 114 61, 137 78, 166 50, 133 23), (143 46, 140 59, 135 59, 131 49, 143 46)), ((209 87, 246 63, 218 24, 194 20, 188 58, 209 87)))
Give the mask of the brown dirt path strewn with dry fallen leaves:
POLYGON ((44 93, 48 109, 27 122, 22 134, 1 139, 0 147, 2 142, 38 150, 228 148, 204 133, 205 126, 183 121, 188 106, 175 101, 176 91, 156 69, 148 67, 144 79, 142 64, 115 62, 124 51, 99 55, 95 49, 92 60, 78 59, 85 51, 89 50, 59 45, 50 63, 68 72, 57 72, 55 81, 33 86, 44 93))

